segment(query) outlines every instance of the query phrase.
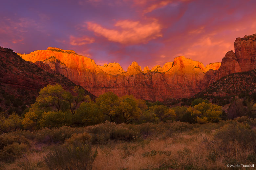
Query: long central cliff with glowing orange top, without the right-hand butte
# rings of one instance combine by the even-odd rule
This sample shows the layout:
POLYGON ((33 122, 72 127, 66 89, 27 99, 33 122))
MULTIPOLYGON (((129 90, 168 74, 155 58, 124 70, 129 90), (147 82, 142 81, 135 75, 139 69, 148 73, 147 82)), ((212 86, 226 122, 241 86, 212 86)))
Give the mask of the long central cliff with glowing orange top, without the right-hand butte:
POLYGON ((133 94, 136 98, 162 101, 189 97, 201 91, 203 65, 183 56, 165 63, 163 67, 156 66, 158 71, 145 67, 142 72, 138 63, 132 62, 124 72, 118 63, 98 66, 94 60, 79 56, 74 51, 51 49, 20 55, 25 60, 48 64, 53 71, 65 75, 96 96, 111 91, 118 96, 133 94))

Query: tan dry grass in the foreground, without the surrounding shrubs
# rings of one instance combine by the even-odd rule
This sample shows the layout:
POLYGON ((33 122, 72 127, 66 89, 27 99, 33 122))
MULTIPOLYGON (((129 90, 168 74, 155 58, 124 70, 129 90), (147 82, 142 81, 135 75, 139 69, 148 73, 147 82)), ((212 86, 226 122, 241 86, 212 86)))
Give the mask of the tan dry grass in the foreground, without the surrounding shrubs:
MULTIPOLYGON (((224 124, 222 122, 221 126, 224 124)), ((244 124, 238 125, 238 127, 243 125, 243 128, 247 128, 244 124)), ((93 150, 97 148, 98 154, 92 169, 223 170, 228 169, 227 164, 255 164, 253 161, 248 161, 249 155, 255 155, 255 151, 251 148, 253 144, 246 145, 239 143, 239 140, 224 142, 216 138, 221 126, 218 124, 195 125, 196 129, 183 132, 176 131, 169 134, 165 130, 162 133, 147 137, 141 136, 131 141, 110 140, 105 144, 94 144, 93 150)), ((252 125, 250 132, 256 132, 254 126, 252 125)), ((30 152, 11 164, 0 164, 0 170, 46 170, 44 156, 52 147, 54 147, 53 144, 31 142, 30 152)))

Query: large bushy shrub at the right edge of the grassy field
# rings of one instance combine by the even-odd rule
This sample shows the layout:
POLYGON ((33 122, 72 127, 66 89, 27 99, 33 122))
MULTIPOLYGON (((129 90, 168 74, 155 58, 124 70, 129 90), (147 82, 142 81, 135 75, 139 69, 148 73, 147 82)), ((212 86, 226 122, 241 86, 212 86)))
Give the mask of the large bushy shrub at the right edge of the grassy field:
POLYGON ((215 133, 215 138, 222 140, 223 145, 228 145, 230 141, 242 144, 246 147, 247 145, 256 145, 256 132, 251 129, 247 123, 227 124, 222 126, 215 133))

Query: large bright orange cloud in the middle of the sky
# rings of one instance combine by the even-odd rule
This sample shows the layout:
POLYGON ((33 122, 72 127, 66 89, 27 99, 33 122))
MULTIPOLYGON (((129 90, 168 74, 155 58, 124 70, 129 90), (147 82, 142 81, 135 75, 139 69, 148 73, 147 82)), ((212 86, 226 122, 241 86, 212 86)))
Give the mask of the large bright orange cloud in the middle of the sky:
POLYGON ((162 27, 157 20, 149 24, 141 24, 139 21, 129 20, 118 21, 115 26, 121 28, 120 30, 107 29, 91 22, 88 22, 87 26, 89 30, 107 38, 109 41, 122 44, 147 43, 152 39, 162 37, 162 27))

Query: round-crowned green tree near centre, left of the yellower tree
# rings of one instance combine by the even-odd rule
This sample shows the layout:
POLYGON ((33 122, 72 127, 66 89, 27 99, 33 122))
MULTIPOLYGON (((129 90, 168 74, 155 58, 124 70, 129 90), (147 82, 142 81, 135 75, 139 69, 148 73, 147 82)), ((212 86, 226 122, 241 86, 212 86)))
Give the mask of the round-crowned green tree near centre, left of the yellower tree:
POLYGON ((118 96, 113 92, 107 92, 99 95, 96 98, 96 104, 99 106, 102 113, 109 117, 110 122, 115 121, 115 119, 119 116, 116 112, 117 107, 119 105, 118 96))

